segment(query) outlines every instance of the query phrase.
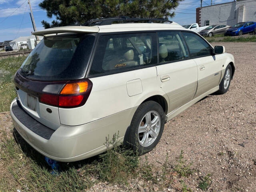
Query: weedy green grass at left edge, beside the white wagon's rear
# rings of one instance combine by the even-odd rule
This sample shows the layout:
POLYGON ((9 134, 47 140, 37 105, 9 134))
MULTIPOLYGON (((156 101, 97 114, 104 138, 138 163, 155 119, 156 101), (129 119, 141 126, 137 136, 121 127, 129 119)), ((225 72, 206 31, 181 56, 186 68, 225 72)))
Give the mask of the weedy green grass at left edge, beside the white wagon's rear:
POLYGON ((13 78, 26 56, 0 60, 0 112, 9 111, 10 103, 16 97, 13 78))

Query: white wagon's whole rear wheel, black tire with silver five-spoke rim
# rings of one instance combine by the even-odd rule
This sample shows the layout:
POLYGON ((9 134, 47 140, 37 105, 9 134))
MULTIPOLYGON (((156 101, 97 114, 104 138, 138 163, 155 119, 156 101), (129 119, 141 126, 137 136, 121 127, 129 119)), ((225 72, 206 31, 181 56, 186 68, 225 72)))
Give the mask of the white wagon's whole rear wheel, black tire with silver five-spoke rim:
POLYGON ((162 136, 164 123, 165 114, 160 104, 154 101, 142 103, 134 113, 130 127, 126 131, 124 144, 140 155, 151 151, 162 136), (149 113, 150 116, 148 115, 149 113), (153 120, 158 121, 153 122, 153 120), (147 124, 152 124, 152 122, 156 123, 156 125, 146 126, 147 124), (141 133, 138 134, 139 127, 141 133))

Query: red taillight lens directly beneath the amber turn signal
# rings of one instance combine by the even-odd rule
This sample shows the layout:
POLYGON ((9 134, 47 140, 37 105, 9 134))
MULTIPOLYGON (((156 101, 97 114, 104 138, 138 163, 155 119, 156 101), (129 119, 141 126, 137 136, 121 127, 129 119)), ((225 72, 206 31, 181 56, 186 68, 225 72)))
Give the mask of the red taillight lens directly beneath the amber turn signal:
POLYGON ((59 106, 60 107, 72 107, 78 106, 84 96, 83 95, 75 95, 75 96, 59 96, 59 106))

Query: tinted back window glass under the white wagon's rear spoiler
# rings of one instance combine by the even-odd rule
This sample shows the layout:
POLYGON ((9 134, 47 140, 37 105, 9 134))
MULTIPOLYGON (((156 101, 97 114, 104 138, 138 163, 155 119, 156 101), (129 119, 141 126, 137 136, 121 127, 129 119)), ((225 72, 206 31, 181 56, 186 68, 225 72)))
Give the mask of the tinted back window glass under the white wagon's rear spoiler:
POLYGON ((94 40, 93 35, 44 38, 23 62, 21 74, 37 80, 81 78, 94 40))

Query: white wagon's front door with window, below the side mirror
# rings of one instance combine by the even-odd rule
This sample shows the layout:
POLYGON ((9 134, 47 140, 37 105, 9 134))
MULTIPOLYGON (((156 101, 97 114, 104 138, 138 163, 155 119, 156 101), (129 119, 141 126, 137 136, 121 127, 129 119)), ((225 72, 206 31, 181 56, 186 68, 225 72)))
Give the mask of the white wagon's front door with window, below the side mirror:
POLYGON ((195 97, 218 86, 221 76, 223 57, 212 55, 212 48, 200 36, 191 32, 182 32, 190 56, 196 62, 198 70, 198 86, 195 97))

